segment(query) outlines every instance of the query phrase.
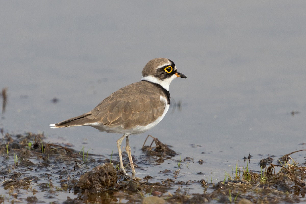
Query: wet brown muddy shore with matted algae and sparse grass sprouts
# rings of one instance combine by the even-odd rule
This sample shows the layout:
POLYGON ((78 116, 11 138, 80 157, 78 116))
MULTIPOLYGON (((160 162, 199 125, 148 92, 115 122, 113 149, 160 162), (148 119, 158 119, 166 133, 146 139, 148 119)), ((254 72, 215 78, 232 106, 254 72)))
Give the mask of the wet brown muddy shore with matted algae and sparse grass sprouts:
MULTIPOLYGON (((217 183, 204 180, 179 181, 178 171, 160 182, 151 176, 129 178, 117 174, 118 154, 101 155, 76 151, 61 144, 46 143, 43 134, 3 134, 0 143, 0 203, 299 203, 305 202, 306 167, 285 154, 275 161, 260 161, 262 171, 246 167, 230 169, 217 183), (112 160, 111 160, 112 158, 112 160), (181 186, 202 188, 191 193, 181 186), (193 187, 192 187, 193 186, 193 187), (70 198, 73 197, 73 198, 70 198)), ((149 136, 148 136, 149 137, 149 136)), ((147 138, 148 139, 148 138, 147 138)), ((147 140, 146 139, 146 140, 147 140)), ((154 137, 142 148, 144 157, 162 158, 176 155, 174 150, 154 137)), ((301 150, 304 151, 304 150, 301 150)), ((126 154, 123 154, 126 159, 126 154)), ((251 156, 249 155, 249 158, 251 156)), ((185 158, 184 161, 193 161, 185 158)), ((136 163, 152 165, 152 159, 136 163)), ((200 161, 199 161, 200 162, 200 161)), ((128 162, 126 162, 128 163, 128 162)), ((204 164, 205 165, 205 164, 204 164)), ((129 166, 127 166, 129 169, 129 166)))

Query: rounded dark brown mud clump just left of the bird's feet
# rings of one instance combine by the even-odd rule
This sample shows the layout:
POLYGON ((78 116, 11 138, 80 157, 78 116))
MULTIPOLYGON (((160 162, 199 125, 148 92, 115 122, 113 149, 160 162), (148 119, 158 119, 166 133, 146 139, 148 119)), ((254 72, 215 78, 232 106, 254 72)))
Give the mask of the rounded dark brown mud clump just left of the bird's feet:
POLYGON ((94 167, 90 172, 80 176, 76 187, 87 189, 91 192, 101 192, 105 189, 112 188, 117 182, 117 175, 114 166, 110 163, 94 167))

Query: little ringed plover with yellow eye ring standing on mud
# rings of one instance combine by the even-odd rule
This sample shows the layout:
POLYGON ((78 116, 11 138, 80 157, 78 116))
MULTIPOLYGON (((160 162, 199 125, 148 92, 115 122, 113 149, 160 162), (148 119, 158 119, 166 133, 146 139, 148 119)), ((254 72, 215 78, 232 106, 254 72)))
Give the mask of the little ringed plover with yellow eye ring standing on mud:
POLYGON ((141 81, 115 91, 88 113, 50 126, 66 128, 88 125, 100 131, 123 134, 117 140, 119 171, 128 176, 121 155, 121 143, 126 138, 125 150, 134 176, 136 172, 129 135, 143 133, 162 120, 170 105, 169 85, 177 77, 187 78, 177 72, 173 61, 166 58, 152 59, 144 66, 141 81))

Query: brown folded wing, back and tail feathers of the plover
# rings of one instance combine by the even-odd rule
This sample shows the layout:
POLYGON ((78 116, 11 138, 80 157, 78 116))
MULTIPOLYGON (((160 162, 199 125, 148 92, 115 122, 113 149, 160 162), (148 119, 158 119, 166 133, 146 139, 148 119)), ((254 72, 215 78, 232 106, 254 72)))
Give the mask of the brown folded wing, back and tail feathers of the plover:
POLYGON ((109 127, 145 126, 160 117, 165 109, 165 96, 161 89, 147 81, 132 83, 105 98, 90 112, 55 124, 55 127, 71 127, 102 123, 109 127), (156 91, 158 90, 158 91, 156 91))

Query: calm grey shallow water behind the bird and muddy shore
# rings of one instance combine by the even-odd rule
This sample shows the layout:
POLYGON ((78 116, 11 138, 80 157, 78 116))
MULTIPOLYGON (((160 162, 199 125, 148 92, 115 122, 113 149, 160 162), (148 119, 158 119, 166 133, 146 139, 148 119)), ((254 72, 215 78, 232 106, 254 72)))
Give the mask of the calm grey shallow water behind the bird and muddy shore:
MULTIPOLYGON (((5 2, 0 88, 8 87, 8 105, 0 128, 44 132, 50 142, 110 155, 120 135, 48 124, 88 112, 140 80, 147 61, 167 57, 188 77, 170 85, 171 102, 181 101, 182 110, 170 109, 130 143, 136 159, 147 134, 179 155, 136 176, 165 179, 158 172, 191 157, 180 180, 200 180, 197 172, 223 180, 237 162, 246 165, 249 153, 249 166, 260 170, 268 154, 305 149, 299 145, 305 142, 305 8, 304 1, 5 2)), ((304 156, 295 159, 303 163, 304 156)))

